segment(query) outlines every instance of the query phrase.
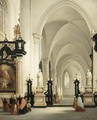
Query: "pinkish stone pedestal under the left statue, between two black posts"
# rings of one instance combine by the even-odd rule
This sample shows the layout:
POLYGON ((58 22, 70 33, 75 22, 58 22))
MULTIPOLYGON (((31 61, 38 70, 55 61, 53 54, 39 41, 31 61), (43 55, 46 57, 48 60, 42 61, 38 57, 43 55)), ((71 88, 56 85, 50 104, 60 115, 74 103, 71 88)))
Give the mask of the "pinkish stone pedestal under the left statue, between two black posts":
POLYGON ((43 92, 36 92, 34 96, 34 107, 46 107, 46 98, 43 92))

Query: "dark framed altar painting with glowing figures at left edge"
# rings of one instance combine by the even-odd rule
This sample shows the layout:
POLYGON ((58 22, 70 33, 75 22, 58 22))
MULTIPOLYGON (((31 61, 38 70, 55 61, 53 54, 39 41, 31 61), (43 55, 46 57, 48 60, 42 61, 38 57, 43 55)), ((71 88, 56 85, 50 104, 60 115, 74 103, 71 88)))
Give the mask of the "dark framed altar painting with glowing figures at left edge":
POLYGON ((16 68, 13 64, 0 64, 0 92, 15 92, 16 68))

